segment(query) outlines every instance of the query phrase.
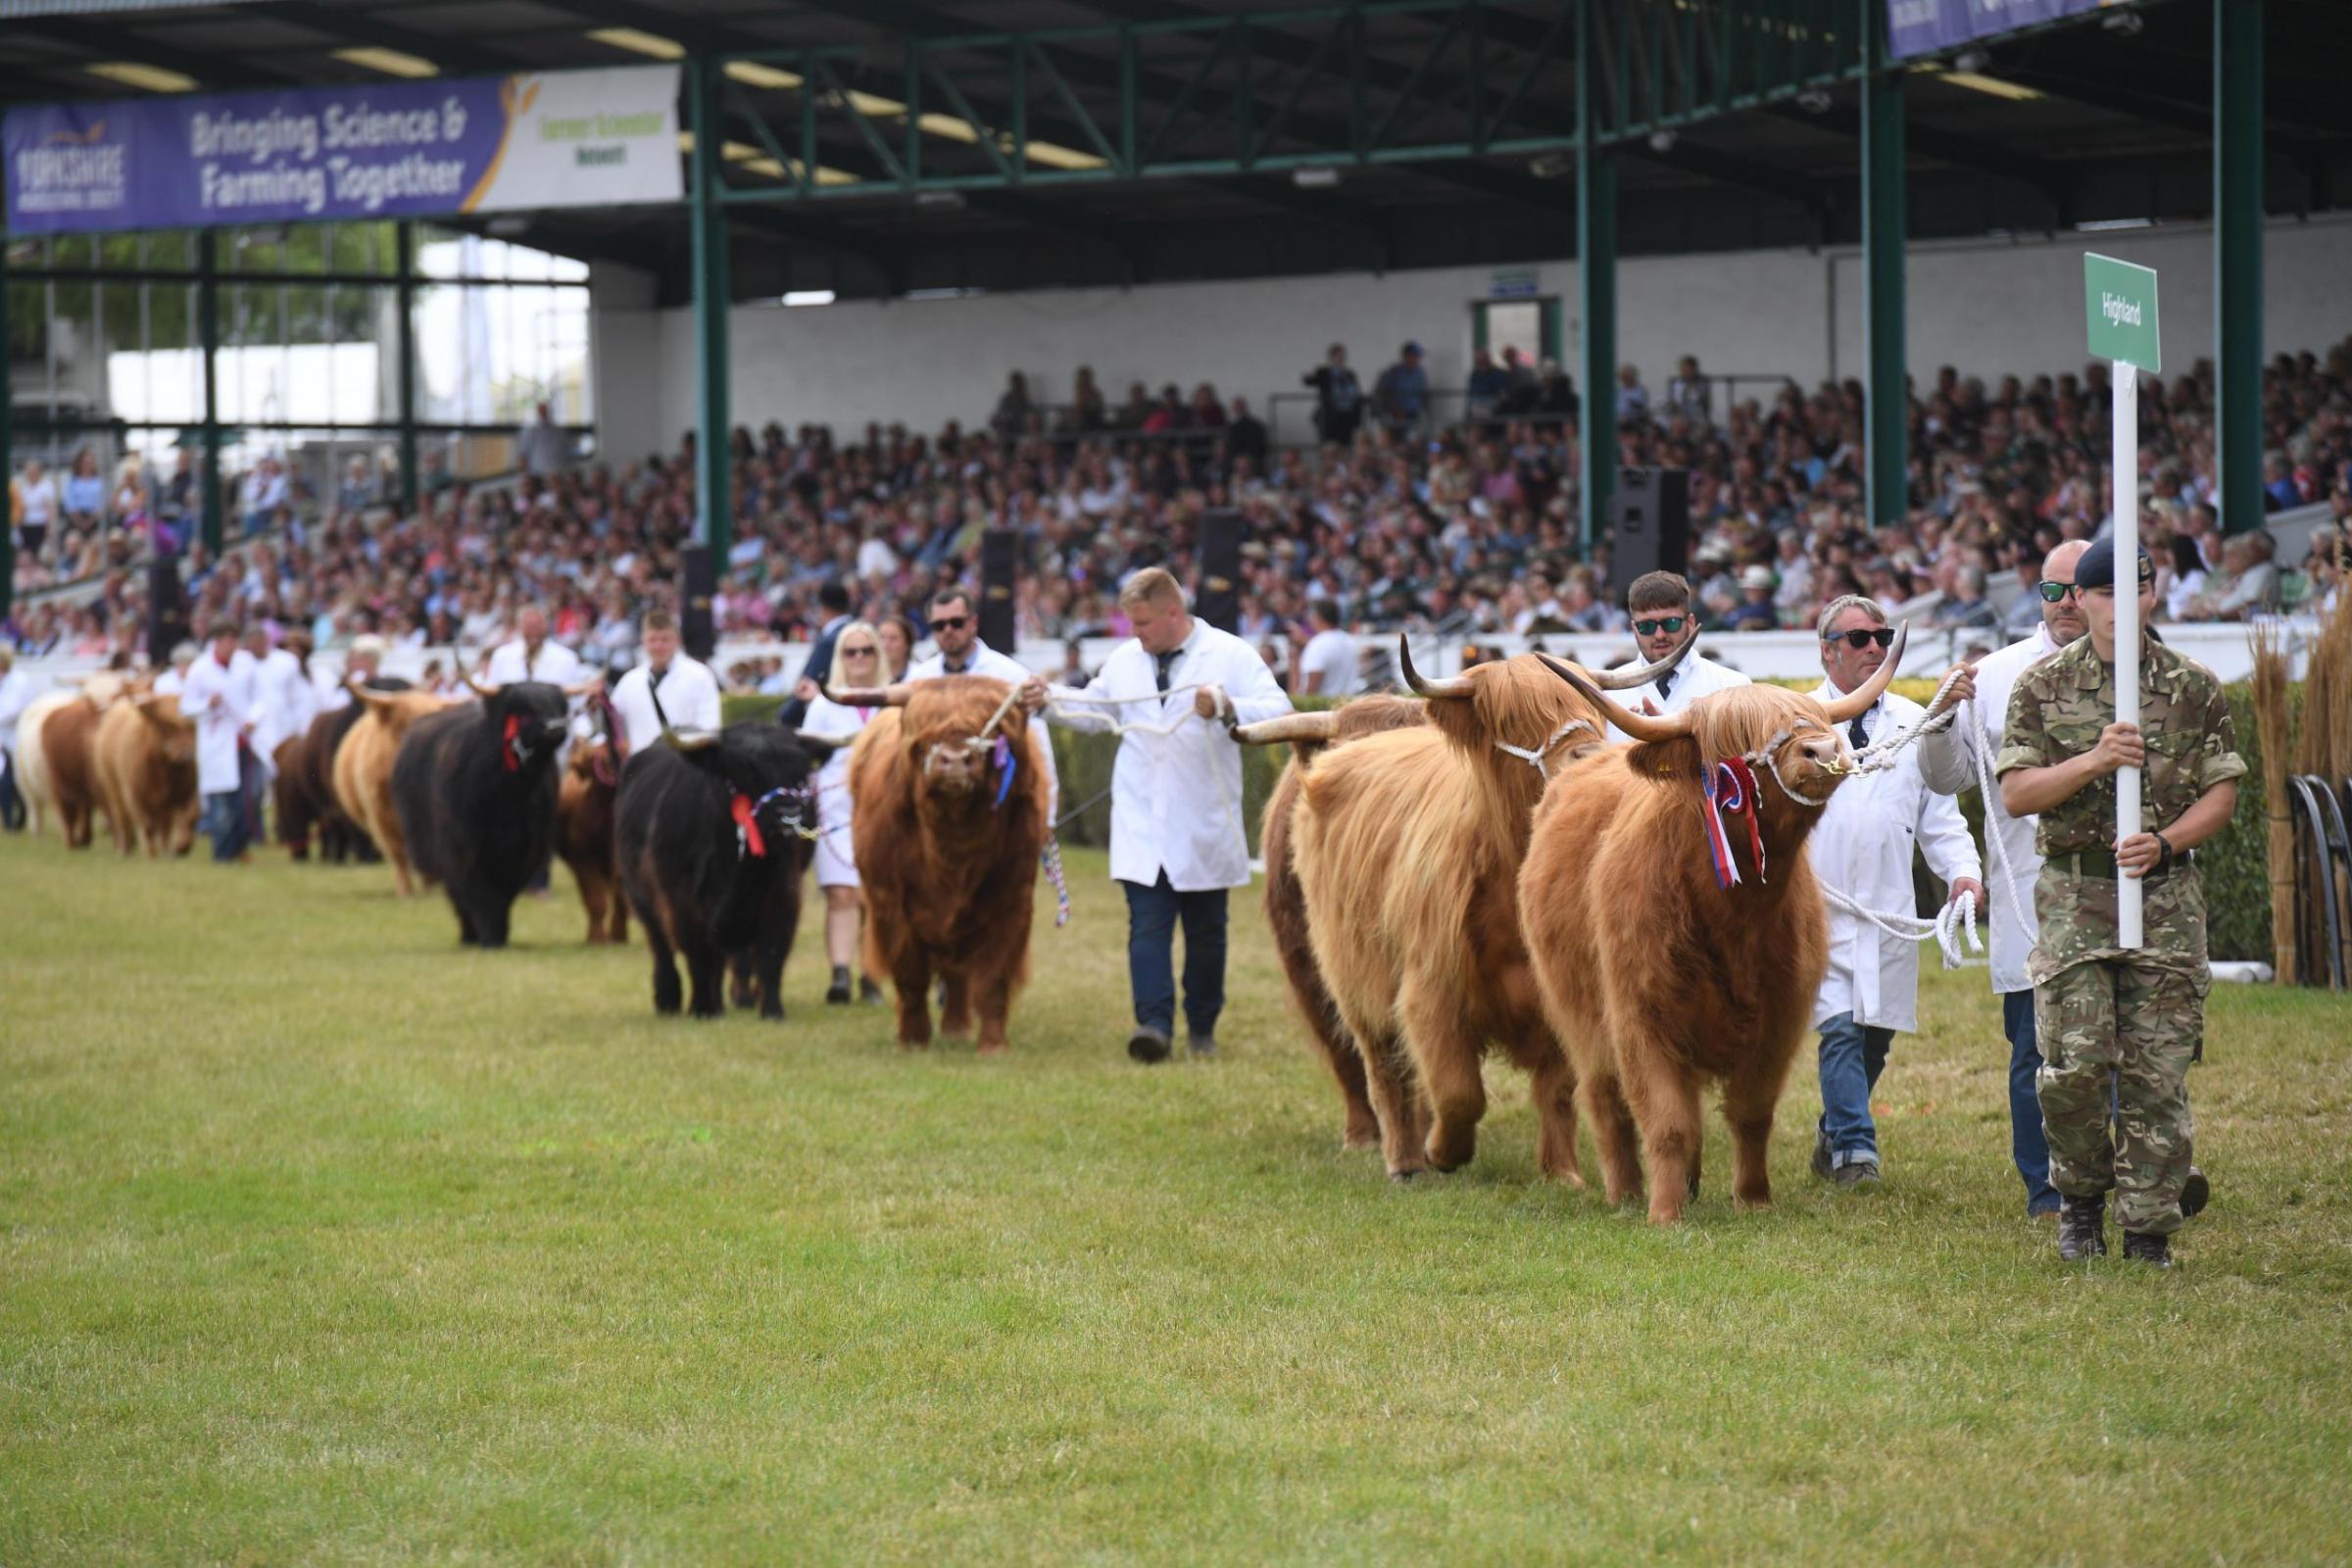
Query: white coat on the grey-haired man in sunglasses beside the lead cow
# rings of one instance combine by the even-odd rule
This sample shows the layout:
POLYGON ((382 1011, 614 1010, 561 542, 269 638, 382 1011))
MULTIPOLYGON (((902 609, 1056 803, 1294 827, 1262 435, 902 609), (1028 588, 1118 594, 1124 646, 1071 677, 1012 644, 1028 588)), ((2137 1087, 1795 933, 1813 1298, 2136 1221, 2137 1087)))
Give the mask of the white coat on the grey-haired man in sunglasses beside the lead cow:
MULTIPOLYGON (((1813 691, 1832 701, 1839 691, 1820 682, 1813 691)), ((1926 717, 1926 708, 1889 691, 1863 715, 1863 733, 1882 741, 1926 717)), ((1842 724, 1839 731, 1851 729, 1842 724)), ((1813 872, 1832 889, 1879 914, 1912 914, 1912 844, 1945 882, 1978 877, 1976 839, 1950 795, 1936 795, 1919 773, 1919 748, 1907 748, 1896 766, 1849 778, 1830 797, 1813 825, 1806 851, 1813 872)), ((1813 999, 1813 1025, 1837 1013, 1879 1030, 1917 1030, 1919 943, 1886 936, 1858 914, 1830 905, 1830 973, 1813 999)))

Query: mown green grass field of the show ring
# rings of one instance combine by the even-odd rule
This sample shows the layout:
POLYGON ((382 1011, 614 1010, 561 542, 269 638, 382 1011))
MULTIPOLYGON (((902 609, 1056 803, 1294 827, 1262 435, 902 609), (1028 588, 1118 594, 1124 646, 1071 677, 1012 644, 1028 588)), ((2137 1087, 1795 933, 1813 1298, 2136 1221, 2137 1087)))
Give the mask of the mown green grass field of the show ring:
MULTIPOLYGON (((1014 1058, 656 1020, 569 886, 456 947, 381 867, 0 842, 0 1563, 2281 1563, 2352 1556, 2352 1006, 2220 987, 2213 1208, 2063 1269, 1983 971, 1889 1182, 1679 1229, 1392 1187, 1235 903, 1214 1065, 1120 1044, 1098 856, 1014 1058)), ((1635 910, 1637 912, 1637 910, 1635 910)))

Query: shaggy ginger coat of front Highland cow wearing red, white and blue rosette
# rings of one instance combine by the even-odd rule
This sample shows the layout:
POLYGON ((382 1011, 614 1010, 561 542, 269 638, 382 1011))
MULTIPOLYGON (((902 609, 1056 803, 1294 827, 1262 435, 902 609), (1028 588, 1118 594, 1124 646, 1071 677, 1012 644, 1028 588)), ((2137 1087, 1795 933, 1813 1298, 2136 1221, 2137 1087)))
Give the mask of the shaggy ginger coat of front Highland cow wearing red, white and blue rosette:
POLYGON ((1571 764, 1536 811, 1519 867, 1522 929, 1604 1190, 1611 1204, 1642 1192, 1639 1145, 1656 1222, 1679 1220, 1698 1187, 1705 1084, 1724 1091, 1733 1199, 1771 1201, 1773 1110, 1828 969, 1820 882, 1804 853, 1820 809, 1757 766, 1764 865, 1733 818, 1740 882, 1717 886, 1700 780, 1771 745, 1790 788, 1828 799, 1839 783, 1828 769, 1846 757, 1823 705, 1776 686, 1703 696, 1677 717, 1691 733, 1571 764))

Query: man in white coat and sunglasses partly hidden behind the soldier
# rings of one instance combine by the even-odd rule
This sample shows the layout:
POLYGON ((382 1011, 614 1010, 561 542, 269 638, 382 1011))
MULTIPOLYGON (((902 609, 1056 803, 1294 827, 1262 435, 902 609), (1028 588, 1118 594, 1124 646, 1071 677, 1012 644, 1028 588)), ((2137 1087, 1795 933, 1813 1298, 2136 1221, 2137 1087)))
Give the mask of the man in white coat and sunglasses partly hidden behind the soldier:
MULTIPOLYGON (((2082 637, 2089 628, 2082 618, 2082 599, 2074 597, 2074 562, 2091 545, 2067 541, 2042 562, 2042 625, 2025 642, 2011 642, 1997 654, 1976 661, 1964 670, 1952 701, 1976 698, 1964 724, 1952 724, 1919 741, 1919 773, 1926 788, 1938 795, 1964 795, 1978 788, 1976 759, 1987 764, 2002 755, 2002 731, 2009 724, 2009 693, 2018 677, 2037 663, 2082 637)), ((1987 766, 1990 773, 1990 766, 1987 766)), ((2006 889, 1997 889, 1992 907, 1985 910, 1992 924, 1992 990, 2002 999, 2002 1032, 2009 1034, 2009 1154, 2025 1182, 2025 1213, 2058 1213, 2060 1197, 2051 1187, 2051 1147, 2042 1135, 2042 1100, 2034 1098, 2034 1074, 2042 1072, 2042 1041, 2034 1037, 2034 983, 2025 973, 2025 957, 2039 940, 2034 919, 2034 877, 2042 875, 2042 856, 2034 849, 2032 816, 2009 816, 2002 792, 1985 795, 1987 849, 1997 839, 2009 863, 2002 877, 2002 860, 1990 875, 2002 877, 2006 889)))

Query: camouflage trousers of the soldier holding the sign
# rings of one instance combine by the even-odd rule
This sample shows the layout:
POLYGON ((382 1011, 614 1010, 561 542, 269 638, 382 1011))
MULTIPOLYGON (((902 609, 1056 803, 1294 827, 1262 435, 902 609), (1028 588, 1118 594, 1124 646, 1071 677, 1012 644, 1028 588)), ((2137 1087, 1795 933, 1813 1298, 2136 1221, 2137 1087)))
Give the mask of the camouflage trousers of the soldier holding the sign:
POLYGON ((2114 1192, 2124 1229, 2180 1229, 2197 1119, 2190 1063, 2204 1039, 2211 978, 2171 952, 2105 952, 2034 985, 2042 1037, 2042 1128, 2051 1185, 2067 1197, 2114 1192), (2110 1131, 2110 1084, 2114 1126, 2110 1131))

